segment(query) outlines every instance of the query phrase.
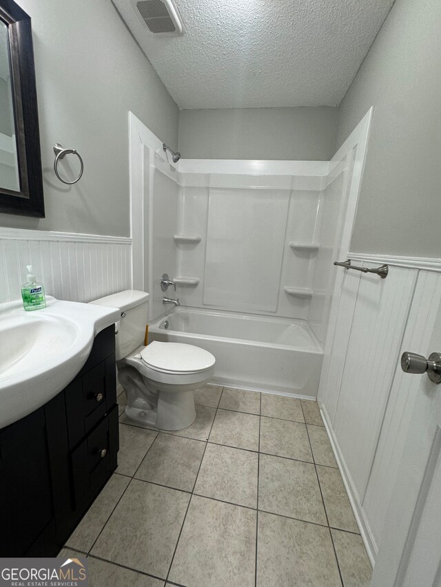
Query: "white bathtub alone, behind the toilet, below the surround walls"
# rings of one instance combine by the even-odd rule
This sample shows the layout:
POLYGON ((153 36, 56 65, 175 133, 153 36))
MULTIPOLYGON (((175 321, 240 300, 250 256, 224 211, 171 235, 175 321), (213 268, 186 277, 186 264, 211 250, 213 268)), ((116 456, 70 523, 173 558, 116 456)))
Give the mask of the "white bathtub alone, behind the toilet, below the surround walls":
POLYGON ((306 321, 174 308, 149 342, 187 343, 216 357, 212 383, 316 398, 323 350, 306 321))

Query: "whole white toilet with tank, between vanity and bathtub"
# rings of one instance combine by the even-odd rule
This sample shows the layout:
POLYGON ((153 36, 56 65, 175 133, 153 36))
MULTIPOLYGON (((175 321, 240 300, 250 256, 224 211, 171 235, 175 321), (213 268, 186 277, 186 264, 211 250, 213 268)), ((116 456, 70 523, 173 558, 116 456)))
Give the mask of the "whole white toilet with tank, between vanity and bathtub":
POLYGON ((127 394, 125 414, 141 426, 181 430, 196 418, 193 390, 214 374, 214 356, 194 345, 143 345, 150 295, 126 290, 90 303, 119 308, 116 365, 127 394))

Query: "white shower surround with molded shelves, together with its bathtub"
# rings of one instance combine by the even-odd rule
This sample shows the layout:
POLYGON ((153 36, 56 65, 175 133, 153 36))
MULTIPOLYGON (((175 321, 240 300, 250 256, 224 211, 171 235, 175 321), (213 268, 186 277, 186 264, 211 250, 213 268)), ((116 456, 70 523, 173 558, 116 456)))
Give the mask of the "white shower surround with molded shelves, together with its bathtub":
POLYGON ((174 166, 132 115, 130 138, 134 288, 152 296, 150 340, 206 348, 217 383, 316 397, 332 260, 347 254, 355 211, 353 150, 174 166), (163 306, 163 273, 184 309, 163 306))

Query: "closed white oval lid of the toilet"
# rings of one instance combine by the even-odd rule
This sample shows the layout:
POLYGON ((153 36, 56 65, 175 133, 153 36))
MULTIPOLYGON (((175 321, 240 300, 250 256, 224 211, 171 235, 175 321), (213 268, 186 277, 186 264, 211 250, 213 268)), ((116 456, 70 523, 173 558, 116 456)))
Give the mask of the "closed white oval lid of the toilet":
POLYGON ((158 341, 153 341, 141 351, 141 359, 147 367, 156 371, 174 373, 197 373, 209 369, 216 363, 211 352, 203 348, 158 341))

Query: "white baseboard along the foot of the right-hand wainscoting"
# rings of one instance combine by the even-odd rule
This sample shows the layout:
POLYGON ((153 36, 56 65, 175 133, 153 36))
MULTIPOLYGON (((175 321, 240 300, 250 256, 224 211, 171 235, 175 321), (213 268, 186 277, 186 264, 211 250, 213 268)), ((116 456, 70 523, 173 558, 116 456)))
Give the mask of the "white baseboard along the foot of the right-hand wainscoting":
POLYGON ((329 440, 331 442, 332 450, 334 451, 334 456, 337 461, 338 469, 340 469, 340 473, 343 479, 343 483, 345 484, 345 489, 347 491, 347 495, 349 497, 349 502, 351 503, 353 515, 356 518, 356 522, 358 524, 358 529, 360 530, 360 535, 362 537, 362 541, 365 544, 366 552, 371 562, 371 565, 375 565, 376 556, 378 554, 378 546, 376 541, 373 537, 371 528, 369 526, 369 522, 365 515, 365 511, 362 508, 362 504, 358 499, 358 495, 355 489, 355 485, 353 484, 353 480, 351 478, 351 473, 349 473, 349 469, 345 463, 345 459, 342 456, 340 451, 340 447, 338 445, 338 441, 334 434, 334 430, 332 429, 329 414, 327 413, 326 407, 323 405, 320 409, 320 413, 322 414, 323 422, 325 423, 325 428, 327 434, 329 436, 329 440))

